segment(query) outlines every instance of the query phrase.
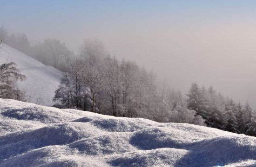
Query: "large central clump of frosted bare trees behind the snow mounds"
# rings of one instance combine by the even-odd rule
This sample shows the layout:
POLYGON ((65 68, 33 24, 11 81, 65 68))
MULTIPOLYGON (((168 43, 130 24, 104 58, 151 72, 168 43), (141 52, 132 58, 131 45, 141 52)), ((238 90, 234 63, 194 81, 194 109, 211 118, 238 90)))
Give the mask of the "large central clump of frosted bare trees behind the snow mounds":
POLYGON ((55 93, 56 106, 62 108, 204 125, 202 116, 187 108, 181 92, 167 84, 160 88, 152 71, 135 62, 118 61, 97 40, 84 42, 79 56, 69 61, 55 93))

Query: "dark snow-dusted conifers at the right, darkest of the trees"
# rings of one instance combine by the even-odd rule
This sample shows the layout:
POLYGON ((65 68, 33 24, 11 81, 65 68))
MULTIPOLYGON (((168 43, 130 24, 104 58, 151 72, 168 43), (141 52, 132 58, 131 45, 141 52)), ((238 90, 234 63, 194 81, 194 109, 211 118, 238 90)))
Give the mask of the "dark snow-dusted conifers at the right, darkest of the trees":
POLYGON ((209 127, 256 136, 256 113, 249 103, 235 103, 212 86, 205 89, 196 83, 192 83, 187 96, 188 108, 202 116, 209 127))

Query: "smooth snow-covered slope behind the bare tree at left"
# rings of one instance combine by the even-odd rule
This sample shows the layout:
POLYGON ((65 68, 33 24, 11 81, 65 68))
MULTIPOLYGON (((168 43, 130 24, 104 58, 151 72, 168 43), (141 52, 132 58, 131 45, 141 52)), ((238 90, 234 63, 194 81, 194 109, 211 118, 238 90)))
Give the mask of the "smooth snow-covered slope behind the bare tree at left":
POLYGON ((0 64, 14 62, 21 73, 26 75, 27 79, 19 82, 19 87, 27 92, 28 101, 53 105, 54 91, 60 83, 61 71, 46 66, 8 45, 3 44, 1 47, 0 64))

